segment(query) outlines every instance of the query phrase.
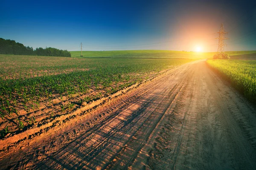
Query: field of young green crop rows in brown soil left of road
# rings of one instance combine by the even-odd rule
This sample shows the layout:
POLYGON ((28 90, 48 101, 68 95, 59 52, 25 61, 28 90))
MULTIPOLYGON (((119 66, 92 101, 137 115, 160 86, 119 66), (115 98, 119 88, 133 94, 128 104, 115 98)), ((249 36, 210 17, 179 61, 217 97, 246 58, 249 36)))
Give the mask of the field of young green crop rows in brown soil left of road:
MULTIPOLYGON (((192 59, 0 54, 0 128, 20 132, 192 59)), ((2 133, 4 136, 6 133, 2 133)))

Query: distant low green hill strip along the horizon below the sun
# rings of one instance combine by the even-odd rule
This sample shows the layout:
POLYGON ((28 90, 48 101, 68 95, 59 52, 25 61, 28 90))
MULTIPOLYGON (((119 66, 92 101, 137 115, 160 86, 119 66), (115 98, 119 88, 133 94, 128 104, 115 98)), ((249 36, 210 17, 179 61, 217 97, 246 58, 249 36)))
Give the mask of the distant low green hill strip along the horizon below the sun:
MULTIPOLYGON (((80 57, 81 51, 70 51, 72 57, 80 57)), ((205 59, 212 58, 215 52, 199 53, 169 50, 127 50, 127 51, 82 51, 83 57, 110 58, 165 58, 165 59, 205 59)), ((231 59, 256 59, 256 51, 227 51, 231 59), (253 55, 252 55, 253 54, 253 55)))

